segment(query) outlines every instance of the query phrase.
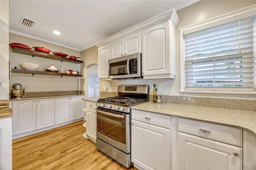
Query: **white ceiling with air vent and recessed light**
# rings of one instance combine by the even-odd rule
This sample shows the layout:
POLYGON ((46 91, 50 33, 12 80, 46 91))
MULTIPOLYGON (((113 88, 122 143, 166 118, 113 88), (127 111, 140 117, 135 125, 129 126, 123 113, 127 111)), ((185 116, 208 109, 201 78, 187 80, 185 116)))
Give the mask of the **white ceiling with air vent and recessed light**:
POLYGON ((152 16, 198 1, 10 0, 9 29, 14 34, 82 51, 152 16), (33 21, 33 26, 22 25, 22 17, 33 21), (53 34, 55 30, 60 35, 53 34))

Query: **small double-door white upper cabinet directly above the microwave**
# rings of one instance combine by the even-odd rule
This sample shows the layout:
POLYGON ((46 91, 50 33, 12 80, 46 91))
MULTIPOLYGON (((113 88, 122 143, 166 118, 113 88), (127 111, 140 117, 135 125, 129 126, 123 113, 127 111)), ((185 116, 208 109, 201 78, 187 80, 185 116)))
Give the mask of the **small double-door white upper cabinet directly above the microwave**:
POLYGON ((111 43, 111 59, 134 53, 141 53, 141 32, 111 43))

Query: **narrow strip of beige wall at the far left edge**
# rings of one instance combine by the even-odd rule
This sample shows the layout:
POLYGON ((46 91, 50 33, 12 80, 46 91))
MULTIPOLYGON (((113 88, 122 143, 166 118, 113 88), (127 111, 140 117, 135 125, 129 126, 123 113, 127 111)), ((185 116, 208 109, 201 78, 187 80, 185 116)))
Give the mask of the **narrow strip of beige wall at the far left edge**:
POLYGON ((9 99, 9 1, 0 0, 0 100, 9 99))

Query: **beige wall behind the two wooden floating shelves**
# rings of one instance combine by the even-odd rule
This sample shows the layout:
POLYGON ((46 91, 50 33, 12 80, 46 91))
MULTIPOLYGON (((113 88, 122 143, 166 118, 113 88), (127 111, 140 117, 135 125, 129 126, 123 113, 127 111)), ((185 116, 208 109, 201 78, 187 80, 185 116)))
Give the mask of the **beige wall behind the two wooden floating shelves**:
MULTIPOLYGON (((9 35, 10 43, 22 43, 28 45, 29 47, 45 47, 51 51, 63 52, 68 55, 74 55, 80 57, 80 51, 75 51, 65 47, 60 47, 58 45, 53 45, 50 43, 42 42, 39 40, 34 40, 32 38, 20 36, 17 34, 10 33, 9 35)), ((69 62, 61 62, 54 59, 46 59, 41 57, 32 57, 30 55, 12 53, 12 48, 7 47, 9 50, 9 60, 10 67, 17 67, 22 69, 20 63, 34 63, 39 64, 38 71, 44 71, 48 69, 52 64, 56 69, 60 69, 60 66, 64 65, 67 69, 72 69, 74 71, 81 71, 82 64, 75 64, 69 62)), ((34 50, 34 48, 32 48, 34 50)), ((50 54, 52 54, 50 52, 50 54)), ((2 69, 2 68, 1 68, 2 69)), ((8 69, 7 69, 8 70, 8 69)), ((30 75, 30 74, 21 74, 21 73, 11 73, 10 79, 10 90, 12 85, 15 83, 20 83, 22 87, 26 87, 27 92, 39 92, 39 91, 73 91, 73 90, 82 90, 80 78, 76 77, 61 77, 61 76, 49 76, 49 75, 30 75)))

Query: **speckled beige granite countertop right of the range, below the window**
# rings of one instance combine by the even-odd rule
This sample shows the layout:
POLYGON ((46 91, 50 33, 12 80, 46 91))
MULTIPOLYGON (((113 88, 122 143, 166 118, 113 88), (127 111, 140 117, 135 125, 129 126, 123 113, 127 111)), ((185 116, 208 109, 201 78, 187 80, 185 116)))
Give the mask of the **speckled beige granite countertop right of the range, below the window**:
POLYGON ((131 107, 131 109, 239 127, 256 134, 256 112, 254 111, 153 102, 142 103, 131 107))

